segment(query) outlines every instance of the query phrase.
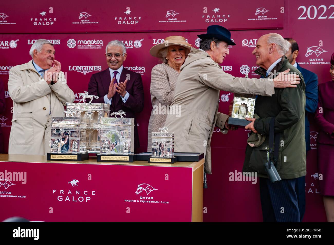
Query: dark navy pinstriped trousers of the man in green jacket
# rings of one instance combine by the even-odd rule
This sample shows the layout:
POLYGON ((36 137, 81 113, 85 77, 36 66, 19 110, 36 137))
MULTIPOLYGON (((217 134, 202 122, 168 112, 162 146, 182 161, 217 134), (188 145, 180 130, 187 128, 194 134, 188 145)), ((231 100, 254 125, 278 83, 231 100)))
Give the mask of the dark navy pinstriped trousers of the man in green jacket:
POLYGON ((297 179, 271 183, 260 178, 260 197, 264 222, 299 222, 300 214, 295 191, 297 179))

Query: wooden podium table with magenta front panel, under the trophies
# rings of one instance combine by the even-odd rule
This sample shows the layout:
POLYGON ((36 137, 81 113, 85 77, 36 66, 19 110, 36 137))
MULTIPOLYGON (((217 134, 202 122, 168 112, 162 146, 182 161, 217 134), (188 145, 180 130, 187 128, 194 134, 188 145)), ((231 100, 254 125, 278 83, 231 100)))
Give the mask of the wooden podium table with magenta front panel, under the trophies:
POLYGON ((0 154, 0 221, 203 221, 203 164, 0 154))

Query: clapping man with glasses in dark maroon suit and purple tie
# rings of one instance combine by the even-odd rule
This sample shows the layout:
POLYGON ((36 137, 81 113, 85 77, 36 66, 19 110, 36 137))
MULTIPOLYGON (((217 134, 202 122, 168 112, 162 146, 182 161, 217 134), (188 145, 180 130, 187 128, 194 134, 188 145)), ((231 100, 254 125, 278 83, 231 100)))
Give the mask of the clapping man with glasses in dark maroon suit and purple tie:
MULTIPOLYGON (((88 84, 89 94, 99 96, 93 103, 108 103, 112 112, 123 110, 126 117, 136 118, 144 106, 144 91, 141 75, 125 69, 123 62, 127 58, 125 45, 113 40, 107 44, 106 58, 108 69, 92 75, 88 84)), ((139 147, 137 123, 135 119, 134 148, 139 147)))

